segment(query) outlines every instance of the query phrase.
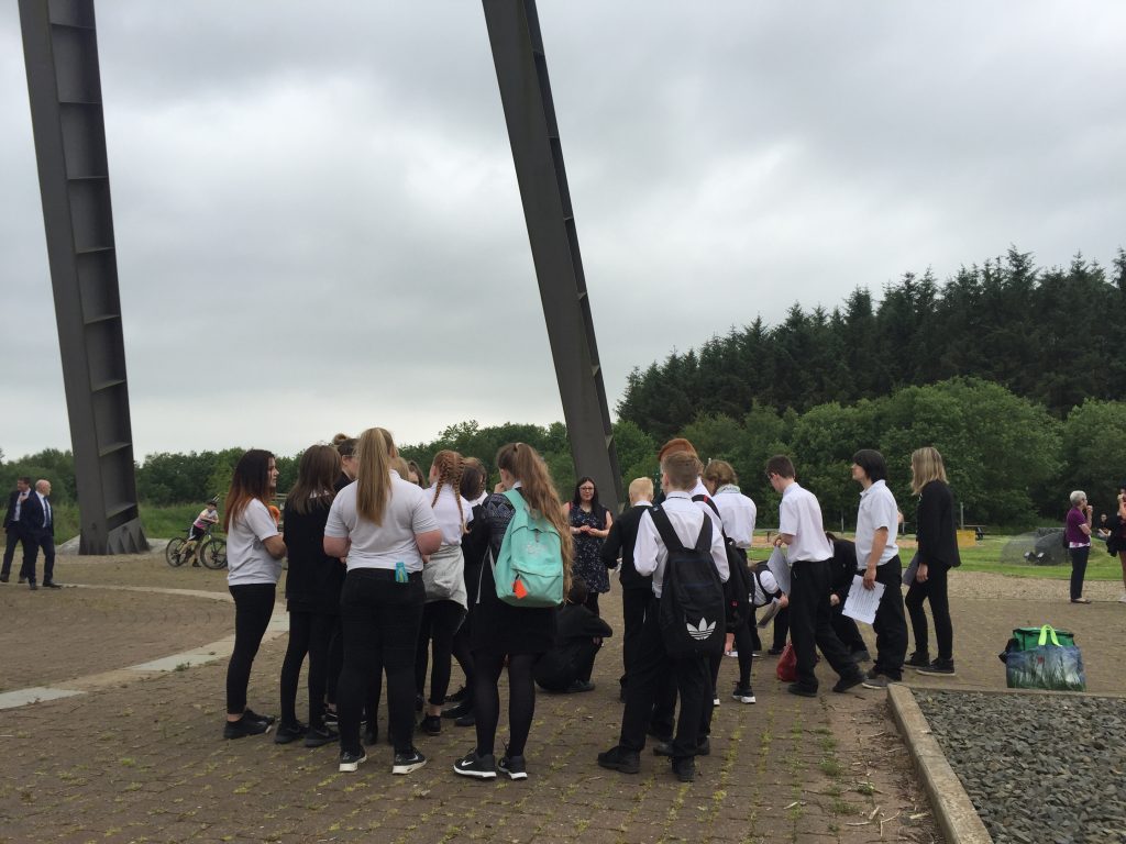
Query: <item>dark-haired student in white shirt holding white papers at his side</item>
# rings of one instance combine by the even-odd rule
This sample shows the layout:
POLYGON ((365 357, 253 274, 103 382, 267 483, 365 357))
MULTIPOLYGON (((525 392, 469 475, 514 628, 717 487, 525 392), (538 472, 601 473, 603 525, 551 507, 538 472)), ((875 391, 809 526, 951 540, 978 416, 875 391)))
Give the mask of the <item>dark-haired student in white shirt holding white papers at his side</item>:
POLYGON ((903 565, 895 536, 900 526, 900 509, 887 488, 887 464, 884 456, 864 448, 852 456, 852 479, 863 487, 856 514, 857 574, 864 575, 864 587, 884 584, 876 620, 876 662, 864 680, 868 689, 886 689, 903 679, 903 659, 908 654, 908 621, 900 589, 903 565))

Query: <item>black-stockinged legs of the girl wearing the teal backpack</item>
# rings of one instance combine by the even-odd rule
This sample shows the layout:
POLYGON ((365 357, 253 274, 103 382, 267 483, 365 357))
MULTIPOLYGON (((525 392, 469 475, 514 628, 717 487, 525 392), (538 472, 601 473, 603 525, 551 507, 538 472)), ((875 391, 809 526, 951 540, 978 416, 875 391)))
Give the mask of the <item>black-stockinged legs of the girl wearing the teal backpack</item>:
MULTIPOLYGON (((500 672, 504 667, 504 654, 475 650, 475 682, 473 685, 474 709, 476 711, 477 753, 488 755, 497 743, 497 724, 500 721, 500 672)), ((536 682, 533 670, 539 654, 508 655, 508 727, 510 731, 508 756, 522 756, 524 746, 531 730, 531 718, 536 712, 536 682)))

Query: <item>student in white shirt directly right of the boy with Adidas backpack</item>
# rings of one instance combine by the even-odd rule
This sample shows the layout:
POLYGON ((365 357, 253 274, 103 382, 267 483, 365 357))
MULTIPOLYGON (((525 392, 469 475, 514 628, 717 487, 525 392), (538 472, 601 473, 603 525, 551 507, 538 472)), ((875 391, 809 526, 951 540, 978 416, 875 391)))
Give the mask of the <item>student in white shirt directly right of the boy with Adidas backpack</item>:
POLYGON ((729 584, 738 586, 739 594, 734 611, 729 612, 727 648, 732 656, 739 657, 739 682, 732 698, 741 703, 753 703, 754 692, 751 691, 751 655, 758 650, 758 636, 754 630, 754 604, 751 601, 753 590, 752 576, 747 567, 747 551, 754 539, 754 519, 758 509, 754 502, 739 490, 739 476, 726 460, 711 460, 704 469, 704 484, 712 494, 712 500, 723 518, 724 533, 735 544, 743 558, 742 571, 733 572, 729 584))

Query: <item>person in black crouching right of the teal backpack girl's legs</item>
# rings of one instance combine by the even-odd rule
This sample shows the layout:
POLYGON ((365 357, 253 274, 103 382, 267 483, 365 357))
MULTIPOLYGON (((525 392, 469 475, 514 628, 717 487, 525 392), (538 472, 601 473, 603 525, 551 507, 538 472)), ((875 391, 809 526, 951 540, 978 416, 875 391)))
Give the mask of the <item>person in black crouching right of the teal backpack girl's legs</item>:
POLYGON ((581 577, 571 582, 566 601, 556 611, 555 647, 536 663, 536 683, 549 692, 589 692, 595 684, 589 677, 602 639, 614 630, 583 604, 588 596, 581 577))

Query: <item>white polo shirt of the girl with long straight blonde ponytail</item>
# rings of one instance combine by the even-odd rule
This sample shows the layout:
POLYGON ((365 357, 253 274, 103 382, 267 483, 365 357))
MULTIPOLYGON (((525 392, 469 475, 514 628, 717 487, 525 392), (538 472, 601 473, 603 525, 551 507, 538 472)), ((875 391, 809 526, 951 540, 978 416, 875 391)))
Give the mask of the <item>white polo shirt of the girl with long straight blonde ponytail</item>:
POLYGON ((324 536, 351 539, 348 571, 354 568, 390 568, 402 563, 408 572, 422 571, 422 556, 415 533, 438 530, 438 520, 430 509, 430 499, 414 484, 391 473, 391 499, 383 512, 383 524, 360 518, 356 511, 359 484, 349 484, 337 493, 329 510, 324 536))

